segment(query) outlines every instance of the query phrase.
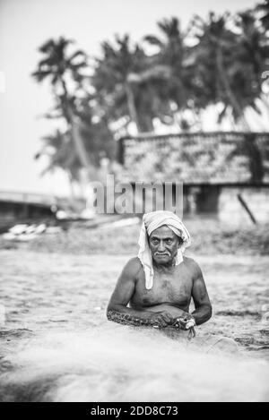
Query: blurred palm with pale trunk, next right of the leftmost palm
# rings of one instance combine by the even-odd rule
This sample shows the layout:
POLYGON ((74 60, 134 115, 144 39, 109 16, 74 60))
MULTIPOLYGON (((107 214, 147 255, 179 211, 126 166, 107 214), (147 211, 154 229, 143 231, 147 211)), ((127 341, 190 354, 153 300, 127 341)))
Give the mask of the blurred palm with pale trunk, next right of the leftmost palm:
POLYGON ((152 131, 157 86, 168 79, 167 66, 155 66, 142 47, 131 47, 127 35, 116 37, 115 46, 103 42, 101 47, 92 77, 100 107, 112 122, 127 118, 138 132, 152 131))

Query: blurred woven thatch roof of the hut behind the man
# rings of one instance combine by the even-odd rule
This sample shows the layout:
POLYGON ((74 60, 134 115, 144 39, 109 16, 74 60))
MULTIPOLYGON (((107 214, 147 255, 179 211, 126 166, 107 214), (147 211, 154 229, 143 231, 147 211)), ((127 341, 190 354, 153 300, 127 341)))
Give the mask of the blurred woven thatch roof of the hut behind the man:
POLYGON ((133 184, 182 182, 199 212, 218 210, 224 187, 269 187, 269 133, 144 133, 119 140, 118 160, 133 184))

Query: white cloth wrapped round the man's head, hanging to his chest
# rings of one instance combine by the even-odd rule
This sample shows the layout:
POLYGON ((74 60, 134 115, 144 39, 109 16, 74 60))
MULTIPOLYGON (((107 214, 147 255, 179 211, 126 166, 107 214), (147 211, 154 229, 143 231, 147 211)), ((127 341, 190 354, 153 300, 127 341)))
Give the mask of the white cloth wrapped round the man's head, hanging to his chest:
POLYGON ((145 274, 145 287, 147 289, 152 288, 154 278, 152 252, 149 246, 148 236, 152 234, 153 230, 158 229, 158 227, 163 225, 169 227, 177 236, 181 237, 183 240, 183 244, 178 248, 176 265, 183 261, 182 253, 184 253, 187 246, 190 245, 190 235, 187 231, 187 228, 184 226, 178 216, 175 213, 172 213, 172 211, 152 211, 152 213, 146 213, 143 215, 143 222, 138 240, 138 258, 143 265, 145 274))

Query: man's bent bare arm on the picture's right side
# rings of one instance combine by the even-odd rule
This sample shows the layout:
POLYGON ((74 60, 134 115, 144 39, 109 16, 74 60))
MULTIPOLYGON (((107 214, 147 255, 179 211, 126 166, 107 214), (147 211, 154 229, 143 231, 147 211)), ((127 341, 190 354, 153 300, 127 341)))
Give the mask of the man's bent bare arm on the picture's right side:
POLYGON ((192 316, 195 318, 196 325, 200 325, 211 318, 212 304, 206 290, 202 270, 195 261, 192 262, 194 268, 192 296, 195 303, 195 311, 192 316))

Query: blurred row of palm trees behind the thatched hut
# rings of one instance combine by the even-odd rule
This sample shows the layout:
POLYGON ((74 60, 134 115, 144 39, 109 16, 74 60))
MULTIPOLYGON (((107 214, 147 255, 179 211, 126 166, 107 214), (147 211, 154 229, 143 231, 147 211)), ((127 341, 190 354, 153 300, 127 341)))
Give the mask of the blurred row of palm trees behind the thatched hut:
POLYGON ((48 81, 53 107, 45 115, 56 130, 43 138, 36 159, 64 169, 71 182, 83 168, 96 177, 100 159, 115 159, 115 135, 133 124, 138 133, 152 132, 153 120, 192 126, 210 105, 221 104, 219 121, 249 131, 245 112, 269 110, 263 74, 269 69, 269 0, 237 14, 195 15, 182 30, 178 18, 158 22, 158 35, 134 43, 128 35, 100 45, 91 57, 74 40, 48 39, 31 76, 48 81), (150 53, 151 52, 151 53, 150 53))

